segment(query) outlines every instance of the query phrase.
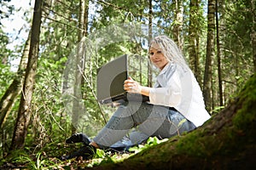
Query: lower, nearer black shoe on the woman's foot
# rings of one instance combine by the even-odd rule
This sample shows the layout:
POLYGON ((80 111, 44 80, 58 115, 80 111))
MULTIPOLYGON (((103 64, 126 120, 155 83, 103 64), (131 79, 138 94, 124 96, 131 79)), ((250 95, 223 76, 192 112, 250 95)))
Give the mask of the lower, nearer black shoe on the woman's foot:
POLYGON ((73 152, 69 156, 61 156, 61 160, 65 161, 74 157, 82 156, 84 160, 91 159, 96 154, 96 147, 92 145, 83 146, 80 150, 73 152))

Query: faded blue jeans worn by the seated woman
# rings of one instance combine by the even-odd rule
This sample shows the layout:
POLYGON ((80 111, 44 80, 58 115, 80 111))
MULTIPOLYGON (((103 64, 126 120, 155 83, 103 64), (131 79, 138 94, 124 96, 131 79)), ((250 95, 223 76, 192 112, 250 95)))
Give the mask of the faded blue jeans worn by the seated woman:
POLYGON ((140 102, 125 102, 114 112, 105 127, 93 139, 100 148, 141 144, 150 136, 170 138, 195 129, 175 109, 140 102))

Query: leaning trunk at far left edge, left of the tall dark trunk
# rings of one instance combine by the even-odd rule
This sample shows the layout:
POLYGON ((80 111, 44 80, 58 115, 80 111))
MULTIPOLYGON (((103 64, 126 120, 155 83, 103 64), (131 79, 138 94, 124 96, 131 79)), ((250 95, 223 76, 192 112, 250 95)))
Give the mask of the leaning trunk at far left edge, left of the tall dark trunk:
POLYGON ((6 118, 9 116, 9 112, 12 109, 12 106, 15 104, 15 100, 17 96, 20 95, 21 92, 21 83, 24 81, 25 72, 26 72, 26 64, 29 54, 31 41, 31 31, 26 40, 25 47, 23 49, 23 54, 20 59, 19 69, 17 71, 17 75, 13 82, 9 85, 9 88, 3 94, 2 99, 0 100, 0 127, 3 127, 3 124, 6 118))

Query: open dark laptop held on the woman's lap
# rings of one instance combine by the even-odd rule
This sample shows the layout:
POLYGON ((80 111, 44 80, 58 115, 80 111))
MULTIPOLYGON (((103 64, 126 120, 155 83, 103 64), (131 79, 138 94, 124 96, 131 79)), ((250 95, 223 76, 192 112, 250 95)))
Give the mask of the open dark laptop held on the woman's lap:
POLYGON ((128 55, 124 54, 97 69, 96 97, 100 104, 125 101, 146 102, 148 96, 127 93, 124 82, 129 77, 128 55))

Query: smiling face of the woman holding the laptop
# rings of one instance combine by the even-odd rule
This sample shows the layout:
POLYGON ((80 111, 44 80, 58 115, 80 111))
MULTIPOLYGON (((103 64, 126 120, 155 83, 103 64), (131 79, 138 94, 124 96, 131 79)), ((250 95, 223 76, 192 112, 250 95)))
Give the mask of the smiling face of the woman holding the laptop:
POLYGON ((151 45, 149 48, 149 57, 151 62, 160 70, 163 70, 168 63, 168 60, 157 44, 151 45))

